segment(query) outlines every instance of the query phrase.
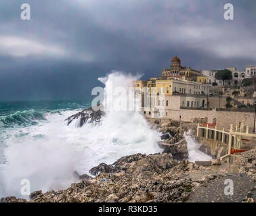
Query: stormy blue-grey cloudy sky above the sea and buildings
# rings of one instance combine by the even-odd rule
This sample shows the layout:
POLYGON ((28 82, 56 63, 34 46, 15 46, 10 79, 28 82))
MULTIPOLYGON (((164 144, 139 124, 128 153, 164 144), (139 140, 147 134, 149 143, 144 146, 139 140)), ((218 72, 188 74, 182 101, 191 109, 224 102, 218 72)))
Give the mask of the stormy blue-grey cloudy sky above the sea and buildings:
POLYGON ((195 70, 244 70, 256 64, 255 9, 254 0, 1 0, 0 101, 85 99, 112 70, 156 77, 175 55, 195 70))

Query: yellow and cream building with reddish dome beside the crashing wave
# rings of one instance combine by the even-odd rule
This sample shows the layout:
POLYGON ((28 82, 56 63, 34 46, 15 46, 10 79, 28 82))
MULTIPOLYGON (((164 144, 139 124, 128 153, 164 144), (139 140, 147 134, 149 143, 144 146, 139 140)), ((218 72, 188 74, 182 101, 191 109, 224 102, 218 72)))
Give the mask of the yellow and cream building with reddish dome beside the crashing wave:
POLYGON ((184 73, 177 57, 172 63, 172 70, 177 67, 173 74, 163 71, 164 76, 135 82, 135 92, 142 97, 142 112, 147 117, 169 117, 173 110, 207 108, 209 84, 196 82, 200 72, 186 68, 184 73))

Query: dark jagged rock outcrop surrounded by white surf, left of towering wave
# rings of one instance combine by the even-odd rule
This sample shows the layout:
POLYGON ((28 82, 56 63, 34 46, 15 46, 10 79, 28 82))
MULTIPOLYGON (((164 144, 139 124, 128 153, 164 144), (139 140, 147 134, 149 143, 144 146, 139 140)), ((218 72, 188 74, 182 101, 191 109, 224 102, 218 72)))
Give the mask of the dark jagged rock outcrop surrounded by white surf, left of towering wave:
POLYGON ((71 115, 65 121, 68 121, 68 125, 76 120, 79 119, 79 127, 82 127, 84 124, 98 124, 100 122, 100 119, 102 118, 102 115, 104 115, 104 111, 101 111, 100 109, 98 111, 95 111, 92 108, 84 109, 83 111, 71 115))

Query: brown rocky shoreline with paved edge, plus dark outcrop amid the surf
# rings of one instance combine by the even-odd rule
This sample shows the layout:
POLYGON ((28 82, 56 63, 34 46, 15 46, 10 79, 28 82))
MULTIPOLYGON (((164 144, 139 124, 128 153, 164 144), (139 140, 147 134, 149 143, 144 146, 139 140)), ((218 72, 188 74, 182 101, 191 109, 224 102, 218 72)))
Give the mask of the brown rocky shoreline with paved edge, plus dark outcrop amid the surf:
MULTIPOLYGON (((81 119, 98 124, 102 111, 86 109, 66 121, 81 119), (92 114, 93 113, 93 114, 92 114)), ((163 133, 158 144, 163 153, 121 157, 111 165, 101 163, 90 169, 94 175, 79 175, 79 183, 66 190, 36 191, 30 200, 14 196, 1 202, 254 202, 256 186, 256 150, 241 154, 238 169, 230 172, 226 162, 188 161, 184 128, 173 123, 154 125, 163 133), (234 196, 226 196, 226 179, 234 181, 234 196), (239 190, 236 190, 239 186, 239 190)))

